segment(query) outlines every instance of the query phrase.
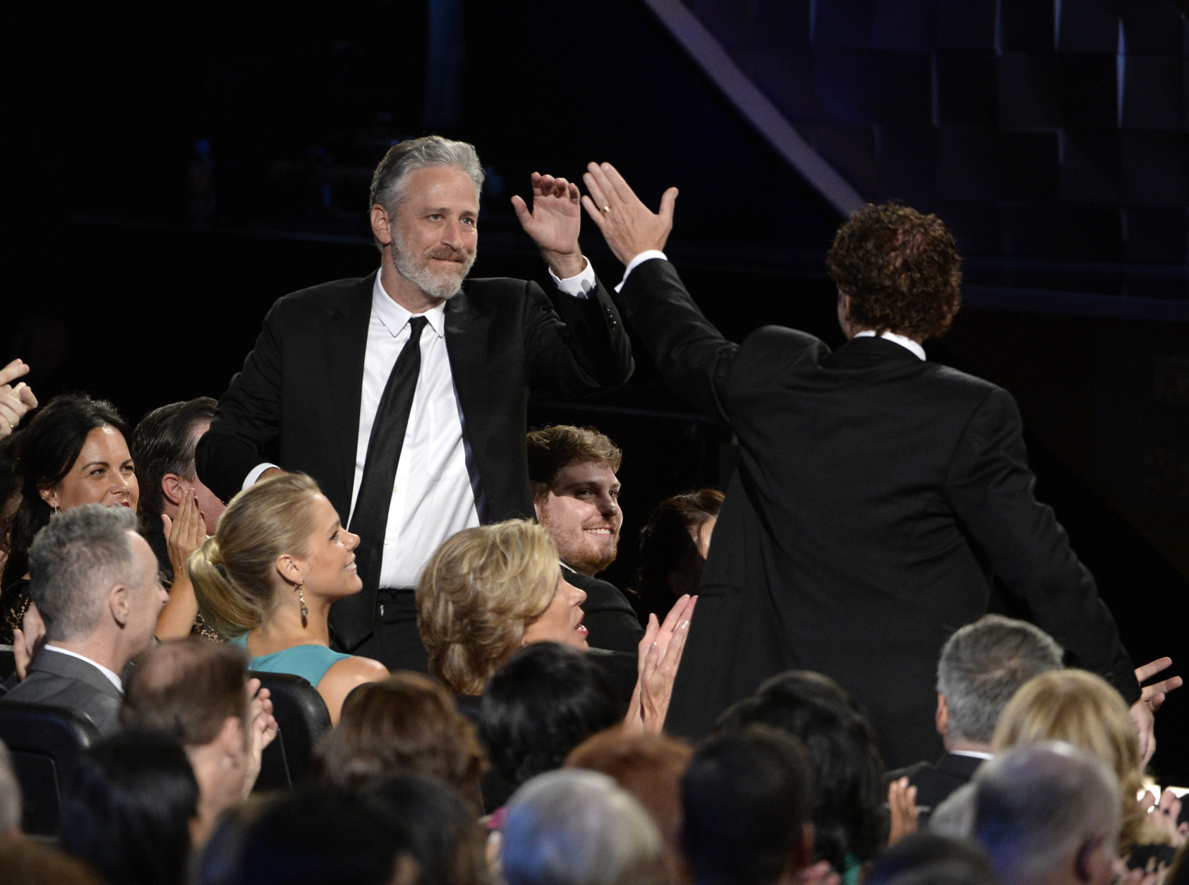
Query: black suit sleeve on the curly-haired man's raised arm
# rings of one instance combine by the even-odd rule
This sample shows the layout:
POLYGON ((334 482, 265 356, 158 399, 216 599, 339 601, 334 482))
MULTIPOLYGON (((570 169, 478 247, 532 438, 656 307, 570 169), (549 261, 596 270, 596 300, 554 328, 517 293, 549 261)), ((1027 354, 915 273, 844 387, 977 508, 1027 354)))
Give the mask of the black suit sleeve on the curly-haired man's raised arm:
POLYGON ((654 258, 637 266, 619 305, 665 383, 711 418, 729 421, 722 391, 740 346, 703 316, 673 265, 654 258))

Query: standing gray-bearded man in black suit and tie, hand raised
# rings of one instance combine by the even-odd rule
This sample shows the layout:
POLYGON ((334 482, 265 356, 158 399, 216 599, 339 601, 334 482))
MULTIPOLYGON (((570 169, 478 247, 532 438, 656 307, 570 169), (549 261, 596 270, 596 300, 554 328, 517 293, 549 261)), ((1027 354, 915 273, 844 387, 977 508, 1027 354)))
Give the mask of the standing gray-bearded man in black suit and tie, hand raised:
POLYGON ((534 174, 531 209, 512 197, 560 294, 522 280, 464 284, 482 186, 468 144, 394 146, 371 188, 379 270, 278 300, 196 453, 224 498, 282 467, 319 482, 361 539, 364 589, 334 605, 332 636, 389 669, 426 669, 413 585, 434 550, 463 528, 531 515, 528 393, 581 396, 631 375, 565 178, 534 174))

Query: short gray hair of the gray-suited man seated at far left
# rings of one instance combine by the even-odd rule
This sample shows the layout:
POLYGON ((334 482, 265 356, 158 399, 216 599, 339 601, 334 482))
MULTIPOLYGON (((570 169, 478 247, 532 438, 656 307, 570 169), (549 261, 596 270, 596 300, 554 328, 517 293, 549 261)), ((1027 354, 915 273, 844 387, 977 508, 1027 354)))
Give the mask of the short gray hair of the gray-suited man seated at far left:
POLYGON ((94 630, 107 591, 139 584, 130 532, 137 516, 125 507, 83 504, 54 516, 29 548, 29 595, 45 621, 45 636, 69 640, 94 630))

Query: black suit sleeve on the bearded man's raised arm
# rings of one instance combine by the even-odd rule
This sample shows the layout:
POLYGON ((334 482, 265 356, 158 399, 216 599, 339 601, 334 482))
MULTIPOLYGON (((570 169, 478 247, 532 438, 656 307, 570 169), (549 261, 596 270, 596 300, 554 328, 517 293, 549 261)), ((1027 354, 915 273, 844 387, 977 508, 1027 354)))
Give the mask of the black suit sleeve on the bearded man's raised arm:
POLYGON ((558 396, 586 396, 631 377, 631 344, 619 312, 603 284, 585 299, 564 293, 551 301, 528 283, 524 349, 529 385, 558 396))

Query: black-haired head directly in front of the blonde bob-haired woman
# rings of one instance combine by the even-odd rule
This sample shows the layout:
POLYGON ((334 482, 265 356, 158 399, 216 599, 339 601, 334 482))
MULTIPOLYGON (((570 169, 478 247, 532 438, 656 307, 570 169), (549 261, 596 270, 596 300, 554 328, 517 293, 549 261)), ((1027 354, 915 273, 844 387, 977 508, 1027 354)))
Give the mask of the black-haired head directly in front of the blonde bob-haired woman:
POLYGON ((515 789, 560 767, 574 747, 622 718, 615 684, 598 664, 556 642, 536 642, 487 683, 479 735, 491 764, 515 789))

